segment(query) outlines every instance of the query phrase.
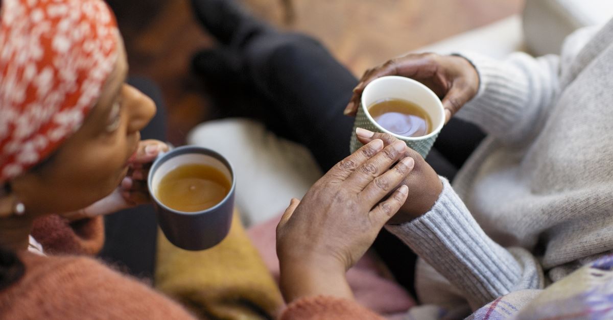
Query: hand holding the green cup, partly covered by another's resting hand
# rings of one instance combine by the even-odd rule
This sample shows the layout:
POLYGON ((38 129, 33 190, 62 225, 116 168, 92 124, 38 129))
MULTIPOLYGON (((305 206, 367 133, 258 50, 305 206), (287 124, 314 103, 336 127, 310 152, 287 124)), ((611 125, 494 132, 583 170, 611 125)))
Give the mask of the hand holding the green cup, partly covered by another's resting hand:
MULTIPOLYGON (((358 128, 356 134, 357 139, 362 143, 370 143, 374 139, 381 139, 384 145, 391 145, 400 141, 391 134, 375 133, 362 128, 358 128)), ((408 187, 408 197, 398 213, 387 221, 388 224, 403 224, 419 218, 432 209, 443 191, 443 183, 441 183, 435 170, 425 162, 417 151, 407 147, 405 156, 415 160, 413 170, 402 181, 402 184, 408 187)))

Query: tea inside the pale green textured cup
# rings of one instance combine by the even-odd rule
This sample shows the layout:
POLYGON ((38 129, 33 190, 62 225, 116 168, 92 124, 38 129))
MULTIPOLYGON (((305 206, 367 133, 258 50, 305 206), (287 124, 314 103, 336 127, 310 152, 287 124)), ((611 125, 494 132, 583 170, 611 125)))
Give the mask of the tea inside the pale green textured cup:
POLYGON ((387 131, 404 137, 421 137, 432 132, 430 115, 422 107, 403 99, 383 99, 368 107, 368 113, 387 131))

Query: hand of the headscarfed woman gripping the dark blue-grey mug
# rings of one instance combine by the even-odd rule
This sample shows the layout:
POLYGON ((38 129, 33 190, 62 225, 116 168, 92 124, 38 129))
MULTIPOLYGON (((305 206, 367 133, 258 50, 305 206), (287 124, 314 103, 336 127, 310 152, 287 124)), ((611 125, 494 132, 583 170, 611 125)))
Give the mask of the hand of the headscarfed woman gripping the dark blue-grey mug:
POLYGON ((128 163, 128 175, 121 181, 109 196, 73 213, 67 213, 66 218, 78 220, 98 215, 108 215, 116 211, 131 208, 140 204, 151 202, 147 188, 147 175, 151 163, 159 153, 166 152, 169 147, 159 140, 142 140, 139 147, 128 163))

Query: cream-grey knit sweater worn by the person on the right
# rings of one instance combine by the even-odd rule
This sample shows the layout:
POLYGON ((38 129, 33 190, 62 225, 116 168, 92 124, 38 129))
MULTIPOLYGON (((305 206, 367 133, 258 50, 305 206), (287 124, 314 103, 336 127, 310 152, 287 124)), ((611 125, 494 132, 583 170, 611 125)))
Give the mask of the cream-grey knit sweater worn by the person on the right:
POLYGON ((613 250, 613 21, 560 56, 462 56, 481 85, 457 116, 488 137, 431 211, 389 227, 422 259, 421 302, 457 316, 613 250))

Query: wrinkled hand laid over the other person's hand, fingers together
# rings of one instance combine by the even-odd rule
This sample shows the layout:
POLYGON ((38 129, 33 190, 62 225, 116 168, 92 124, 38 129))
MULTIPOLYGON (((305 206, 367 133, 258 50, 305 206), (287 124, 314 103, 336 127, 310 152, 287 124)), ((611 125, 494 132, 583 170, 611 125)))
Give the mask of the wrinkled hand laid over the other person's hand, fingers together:
POLYGON ((312 295, 352 299, 345 278, 405 202, 413 169, 402 141, 373 139, 292 199, 276 229, 281 291, 287 303, 312 295), (400 188, 398 187, 400 186, 400 188))

